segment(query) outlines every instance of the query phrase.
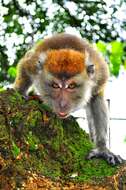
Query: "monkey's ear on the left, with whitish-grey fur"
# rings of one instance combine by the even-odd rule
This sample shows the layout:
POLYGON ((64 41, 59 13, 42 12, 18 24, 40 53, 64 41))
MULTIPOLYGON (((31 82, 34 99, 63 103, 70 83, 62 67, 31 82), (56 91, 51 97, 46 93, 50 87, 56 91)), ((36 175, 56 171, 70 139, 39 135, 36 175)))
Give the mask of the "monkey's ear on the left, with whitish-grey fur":
POLYGON ((37 62, 38 71, 41 71, 43 69, 43 64, 45 63, 46 59, 47 59, 47 54, 45 52, 42 52, 37 62))

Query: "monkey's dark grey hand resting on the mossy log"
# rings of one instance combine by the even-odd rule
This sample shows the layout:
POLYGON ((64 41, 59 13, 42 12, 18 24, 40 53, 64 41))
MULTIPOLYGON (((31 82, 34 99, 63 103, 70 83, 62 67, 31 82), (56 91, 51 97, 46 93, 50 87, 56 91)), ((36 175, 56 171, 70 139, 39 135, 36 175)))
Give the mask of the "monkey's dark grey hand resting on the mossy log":
POLYGON ((119 155, 113 154, 108 149, 103 151, 100 151, 97 148, 91 150, 91 152, 87 156, 87 159, 92 159, 92 158, 103 158, 111 165, 121 164, 124 162, 124 160, 119 155))

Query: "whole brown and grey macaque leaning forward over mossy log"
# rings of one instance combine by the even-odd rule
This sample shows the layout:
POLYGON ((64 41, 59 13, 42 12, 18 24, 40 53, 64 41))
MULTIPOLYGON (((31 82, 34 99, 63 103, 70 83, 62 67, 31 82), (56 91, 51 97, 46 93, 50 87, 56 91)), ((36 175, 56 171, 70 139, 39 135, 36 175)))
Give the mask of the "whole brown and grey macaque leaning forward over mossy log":
POLYGON ((96 145, 88 159, 101 157, 115 165, 123 160, 106 147, 104 86, 108 76, 107 63, 86 40, 57 34, 36 44, 21 59, 14 88, 26 94, 33 85, 62 119, 85 107, 90 137, 96 145))

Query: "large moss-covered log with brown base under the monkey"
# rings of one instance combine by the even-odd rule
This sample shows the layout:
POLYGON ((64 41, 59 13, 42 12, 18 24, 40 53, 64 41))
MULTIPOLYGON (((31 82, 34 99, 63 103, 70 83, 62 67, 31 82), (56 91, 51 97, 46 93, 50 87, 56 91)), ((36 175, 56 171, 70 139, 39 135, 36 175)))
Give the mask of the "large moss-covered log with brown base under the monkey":
POLYGON ((92 148, 75 118, 39 99, 0 92, 0 189, 126 190, 126 165, 87 160, 92 148))

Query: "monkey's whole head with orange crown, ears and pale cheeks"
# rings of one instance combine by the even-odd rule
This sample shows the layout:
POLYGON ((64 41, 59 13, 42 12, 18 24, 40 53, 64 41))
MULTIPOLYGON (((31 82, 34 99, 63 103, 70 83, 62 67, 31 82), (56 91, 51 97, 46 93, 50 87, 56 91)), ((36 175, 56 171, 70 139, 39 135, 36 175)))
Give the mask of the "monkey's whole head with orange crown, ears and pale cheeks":
POLYGON ((37 67, 35 87, 60 118, 68 117, 90 99, 94 65, 87 52, 48 50, 40 54, 37 67))

